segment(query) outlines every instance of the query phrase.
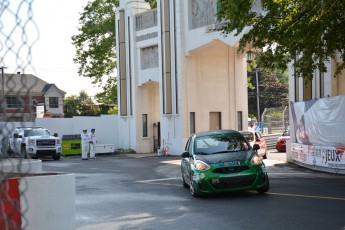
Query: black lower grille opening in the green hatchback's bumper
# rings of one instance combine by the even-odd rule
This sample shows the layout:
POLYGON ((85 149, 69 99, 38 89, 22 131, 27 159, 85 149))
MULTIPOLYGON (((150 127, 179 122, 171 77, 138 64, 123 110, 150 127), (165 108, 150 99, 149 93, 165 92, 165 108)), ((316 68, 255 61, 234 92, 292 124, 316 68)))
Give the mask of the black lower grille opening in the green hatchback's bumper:
POLYGON ((237 176, 229 178, 211 179, 210 183, 215 189, 233 189, 251 186, 256 179, 256 175, 237 176))

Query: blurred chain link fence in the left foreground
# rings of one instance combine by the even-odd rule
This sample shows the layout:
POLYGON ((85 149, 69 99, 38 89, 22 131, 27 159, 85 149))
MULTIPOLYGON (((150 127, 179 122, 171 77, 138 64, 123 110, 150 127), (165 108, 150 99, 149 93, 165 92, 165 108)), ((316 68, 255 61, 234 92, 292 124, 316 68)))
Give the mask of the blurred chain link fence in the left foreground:
POLYGON ((1 230, 26 229, 29 221, 26 218, 29 207, 25 205, 28 183, 24 175, 30 174, 32 168, 27 164, 28 159, 20 155, 9 156, 8 136, 15 128, 13 121, 34 121, 30 92, 35 82, 20 76, 28 68, 34 69, 32 47, 39 39, 39 30, 33 19, 33 3, 34 0, 0 1, 1 230))

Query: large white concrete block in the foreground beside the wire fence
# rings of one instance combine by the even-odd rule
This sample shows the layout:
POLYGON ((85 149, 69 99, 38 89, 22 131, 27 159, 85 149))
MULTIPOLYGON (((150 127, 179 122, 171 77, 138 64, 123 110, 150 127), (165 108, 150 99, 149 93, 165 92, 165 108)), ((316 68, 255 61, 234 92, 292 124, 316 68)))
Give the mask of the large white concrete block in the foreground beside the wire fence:
POLYGON ((74 229, 74 174, 24 177, 19 190, 22 229, 74 229))

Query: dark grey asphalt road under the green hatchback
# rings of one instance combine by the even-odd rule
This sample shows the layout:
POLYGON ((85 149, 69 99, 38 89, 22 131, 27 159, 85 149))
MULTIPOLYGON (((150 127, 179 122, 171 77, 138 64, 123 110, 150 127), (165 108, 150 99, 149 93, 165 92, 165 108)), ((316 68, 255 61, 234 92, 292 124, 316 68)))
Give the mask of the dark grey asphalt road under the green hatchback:
MULTIPOLYGON (((133 155, 136 156, 136 155, 133 155)), ((76 229, 345 229, 345 176, 286 163, 270 151, 270 191, 193 198, 179 157, 43 161, 76 175, 76 229)))

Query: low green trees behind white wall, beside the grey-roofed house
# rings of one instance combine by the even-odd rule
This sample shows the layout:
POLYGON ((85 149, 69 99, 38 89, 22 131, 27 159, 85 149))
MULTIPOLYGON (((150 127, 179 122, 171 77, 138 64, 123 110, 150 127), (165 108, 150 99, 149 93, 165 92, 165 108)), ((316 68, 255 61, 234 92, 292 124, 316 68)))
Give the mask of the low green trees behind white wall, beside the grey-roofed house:
POLYGON ((85 91, 80 91, 79 95, 71 95, 65 98, 65 117, 73 116, 98 116, 100 108, 96 105, 85 91))

